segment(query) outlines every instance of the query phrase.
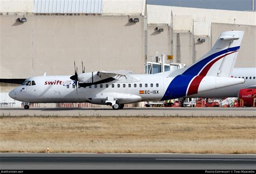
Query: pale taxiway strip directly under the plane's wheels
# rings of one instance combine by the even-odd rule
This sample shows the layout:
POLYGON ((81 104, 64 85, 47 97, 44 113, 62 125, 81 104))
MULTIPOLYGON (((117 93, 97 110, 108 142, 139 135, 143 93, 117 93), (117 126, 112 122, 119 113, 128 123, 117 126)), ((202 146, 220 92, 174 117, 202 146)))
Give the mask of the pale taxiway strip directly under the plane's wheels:
POLYGON ((0 108, 2 116, 256 116, 256 107, 0 108))

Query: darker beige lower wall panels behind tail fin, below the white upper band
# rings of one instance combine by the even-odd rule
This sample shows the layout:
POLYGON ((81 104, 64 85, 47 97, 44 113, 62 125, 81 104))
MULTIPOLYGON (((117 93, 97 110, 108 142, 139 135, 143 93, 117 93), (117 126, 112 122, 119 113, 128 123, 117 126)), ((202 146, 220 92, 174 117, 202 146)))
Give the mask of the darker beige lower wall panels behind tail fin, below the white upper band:
MULTIPOLYGON (((154 26, 156 27, 156 26, 154 26)), ((256 26, 211 23, 211 35, 194 35, 192 32, 174 31, 173 38, 170 35, 170 26, 165 26, 166 32, 153 34, 151 24, 148 26, 148 56, 164 53, 171 54, 171 40, 173 39, 173 62, 185 63, 187 66, 199 60, 215 44, 220 33, 231 30, 244 31, 244 38, 238 54, 235 67, 256 67, 256 26), (199 39, 205 39, 204 42, 199 39)))

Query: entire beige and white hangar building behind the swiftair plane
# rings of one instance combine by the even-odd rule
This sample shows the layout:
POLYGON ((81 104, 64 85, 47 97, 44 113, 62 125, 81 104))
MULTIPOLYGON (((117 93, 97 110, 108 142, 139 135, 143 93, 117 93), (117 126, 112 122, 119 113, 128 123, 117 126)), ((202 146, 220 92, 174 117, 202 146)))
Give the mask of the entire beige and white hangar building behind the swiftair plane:
MULTIPOLYGON (((86 71, 146 72, 156 52, 187 66, 228 30, 245 31, 235 67, 256 66, 256 13, 146 4, 145 0, 0 1, 0 103, 16 79, 86 71), (18 19, 19 18, 19 19, 18 19), (22 22, 22 18, 26 21, 22 22)), ((166 57, 165 57, 166 59, 166 57)))

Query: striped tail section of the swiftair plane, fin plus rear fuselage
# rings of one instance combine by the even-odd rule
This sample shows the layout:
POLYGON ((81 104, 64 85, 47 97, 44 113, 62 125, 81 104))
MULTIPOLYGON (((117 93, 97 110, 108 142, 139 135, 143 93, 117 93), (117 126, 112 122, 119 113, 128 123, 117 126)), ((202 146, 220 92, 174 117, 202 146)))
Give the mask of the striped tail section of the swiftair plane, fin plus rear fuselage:
POLYGON ((243 31, 221 33, 210 52, 200 60, 189 67, 172 71, 169 76, 173 77, 173 80, 161 100, 191 96, 206 90, 244 83, 244 79, 229 78, 243 35, 243 31), (223 83, 223 79, 226 83, 223 83))

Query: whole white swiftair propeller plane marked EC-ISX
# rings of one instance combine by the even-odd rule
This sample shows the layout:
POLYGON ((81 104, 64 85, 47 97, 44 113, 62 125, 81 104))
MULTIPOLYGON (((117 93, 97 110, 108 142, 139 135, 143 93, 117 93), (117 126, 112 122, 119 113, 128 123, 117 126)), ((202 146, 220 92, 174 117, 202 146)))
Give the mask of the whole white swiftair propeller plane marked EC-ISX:
MULTIPOLYGON (((124 104, 161 101, 193 95, 245 83, 232 78, 244 35, 243 31, 220 34, 210 52, 191 66, 153 75, 130 71, 95 71, 69 76, 37 76, 24 81, 9 93, 15 100, 29 103, 80 103, 111 105, 114 110, 124 104)), ((82 65, 83 66, 83 65, 82 65)), ((203 97, 203 96, 202 96, 203 97)))

